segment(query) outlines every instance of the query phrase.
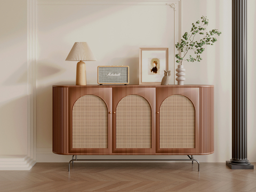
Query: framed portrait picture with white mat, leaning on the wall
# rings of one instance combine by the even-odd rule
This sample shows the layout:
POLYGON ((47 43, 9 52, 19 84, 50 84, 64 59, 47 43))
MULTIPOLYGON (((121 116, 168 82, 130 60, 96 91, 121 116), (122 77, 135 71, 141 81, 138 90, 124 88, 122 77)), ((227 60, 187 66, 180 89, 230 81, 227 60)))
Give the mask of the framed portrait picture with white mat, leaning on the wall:
POLYGON ((160 85, 168 70, 168 48, 140 48, 140 85, 160 85))

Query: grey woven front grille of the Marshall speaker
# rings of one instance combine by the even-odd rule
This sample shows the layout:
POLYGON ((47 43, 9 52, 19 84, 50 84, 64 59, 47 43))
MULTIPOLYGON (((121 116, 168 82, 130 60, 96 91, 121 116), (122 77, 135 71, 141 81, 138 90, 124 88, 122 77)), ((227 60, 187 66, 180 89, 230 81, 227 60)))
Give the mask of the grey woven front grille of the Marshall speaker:
POLYGON ((128 68, 127 67, 100 67, 99 83, 127 83, 128 68), (107 76, 108 73, 119 74, 120 76, 107 76))

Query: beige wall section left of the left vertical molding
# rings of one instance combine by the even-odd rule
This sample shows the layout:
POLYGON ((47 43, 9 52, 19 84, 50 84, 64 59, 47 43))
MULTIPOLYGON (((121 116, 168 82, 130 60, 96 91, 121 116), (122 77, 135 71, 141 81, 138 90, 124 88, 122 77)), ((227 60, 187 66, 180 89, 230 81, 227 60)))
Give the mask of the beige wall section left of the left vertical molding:
POLYGON ((27 154, 27 1, 0 1, 0 155, 27 154))

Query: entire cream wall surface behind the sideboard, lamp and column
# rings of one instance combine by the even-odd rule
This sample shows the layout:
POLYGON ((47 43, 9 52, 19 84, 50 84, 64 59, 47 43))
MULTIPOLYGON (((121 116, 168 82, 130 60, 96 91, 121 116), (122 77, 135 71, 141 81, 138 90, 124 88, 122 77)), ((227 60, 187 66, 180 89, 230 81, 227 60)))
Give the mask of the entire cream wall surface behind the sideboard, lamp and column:
MULTIPOLYGON (((87 84, 97 84, 99 65, 129 65, 130 82, 138 84, 139 47, 173 49, 174 14, 169 6, 161 10, 163 6, 150 5, 150 12, 156 14, 154 17, 148 15, 147 22, 145 15, 149 12, 142 6, 97 5, 88 10, 84 5, 67 5, 65 1, 57 5, 42 5, 42 2, 37 5, 37 161, 61 162, 68 161, 69 157, 51 154, 51 86, 75 83, 76 63, 65 61, 74 42, 88 42, 97 57, 97 61, 86 64, 87 84)), ((248 158, 256 162, 256 81, 253 74, 256 2, 249 0, 248 4, 248 158)), ((185 63, 185 83, 215 86, 215 153, 196 158, 201 162, 225 162, 231 158, 231 0, 182 0, 181 7, 182 34, 202 15, 209 19, 208 30, 222 31, 218 42, 202 54, 200 63, 185 63)), ((0 72, 0 145, 9 143, 7 148, 0 148, 0 155, 26 154, 27 4, 26 1, 6 0, 1 1, 0 9, 1 26, 5 26, 0 35, 0 60, 4 67, 0 72), (11 14, 13 12, 15 14, 11 14)), ((173 51, 169 55, 172 76, 173 51)))

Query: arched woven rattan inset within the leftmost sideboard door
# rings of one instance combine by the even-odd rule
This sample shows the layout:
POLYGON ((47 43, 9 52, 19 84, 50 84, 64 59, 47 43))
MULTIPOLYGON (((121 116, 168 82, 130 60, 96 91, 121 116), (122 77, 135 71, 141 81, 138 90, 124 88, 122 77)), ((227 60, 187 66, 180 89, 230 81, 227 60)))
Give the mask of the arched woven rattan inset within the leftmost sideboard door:
POLYGON ((100 97, 84 95, 72 111, 72 147, 108 148, 108 108, 100 97))

